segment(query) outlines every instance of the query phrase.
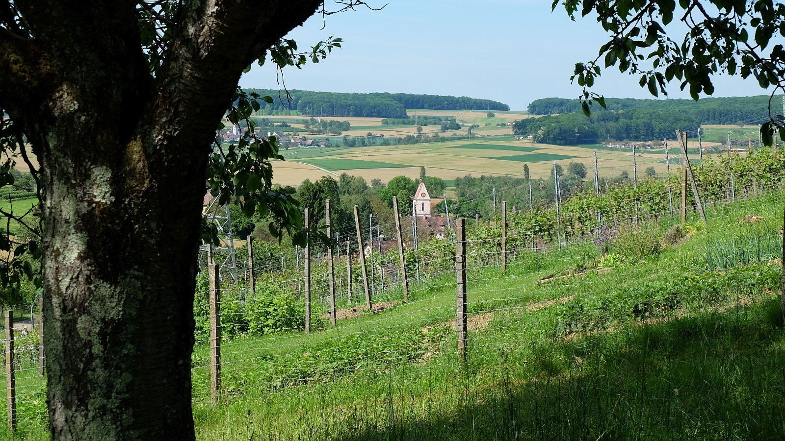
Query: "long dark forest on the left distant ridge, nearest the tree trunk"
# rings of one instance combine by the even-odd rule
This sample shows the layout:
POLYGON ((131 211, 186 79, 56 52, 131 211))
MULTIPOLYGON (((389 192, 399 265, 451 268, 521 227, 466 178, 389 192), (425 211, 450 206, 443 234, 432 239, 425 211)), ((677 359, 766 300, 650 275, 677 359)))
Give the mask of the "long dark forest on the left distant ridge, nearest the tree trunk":
POLYGON ((411 93, 335 93, 309 90, 247 89, 274 100, 273 110, 300 111, 303 115, 322 117, 408 118, 407 108, 431 110, 496 110, 507 111, 507 104, 493 100, 411 93))

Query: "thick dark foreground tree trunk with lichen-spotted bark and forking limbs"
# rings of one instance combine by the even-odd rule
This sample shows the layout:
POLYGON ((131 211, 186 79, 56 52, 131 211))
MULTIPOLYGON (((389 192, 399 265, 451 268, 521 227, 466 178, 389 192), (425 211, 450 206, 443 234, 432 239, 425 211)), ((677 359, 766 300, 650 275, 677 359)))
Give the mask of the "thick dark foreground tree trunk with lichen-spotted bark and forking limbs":
POLYGON ((53 440, 194 439, 210 144, 243 68, 319 4, 184 2, 155 78, 134 2, 17 1, 33 38, 0 28, 0 106, 42 170, 53 440))

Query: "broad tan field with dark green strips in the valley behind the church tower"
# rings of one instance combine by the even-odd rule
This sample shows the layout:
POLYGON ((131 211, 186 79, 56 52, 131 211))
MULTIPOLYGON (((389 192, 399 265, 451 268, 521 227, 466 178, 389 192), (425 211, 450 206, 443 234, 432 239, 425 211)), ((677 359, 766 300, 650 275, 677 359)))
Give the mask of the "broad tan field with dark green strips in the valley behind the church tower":
MULTIPOLYGON (((715 143, 716 144, 716 143, 715 143)), ((703 143, 704 147, 710 143, 703 143)), ((698 158, 697 143, 690 141, 691 159, 698 158)), ((632 174, 633 156, 630 149, 612 149, 604 146, 557 146, 535 144, 513 137, 480 137, 442 143, 400 146, 372 146, 356 148, 294 148, 284 151, 285 162, 276 162, 274 182, 282 185, 299 185, 305 178, 319 179, 327 173, 338 176, 349 173, 362 176, 367 181, 379 178, 387 181, 406 175, 417 177, 420 166, 425 166, 429 176, 446 180, 467 174, 524 177, 524 164, 528 164, 531 177, 547 178, 553 162, 565 168, 570 162, 583 162, 593 167, 593 148, 601 177, 617 177, 623 171, 632 174), (326 173, 327 172, 327 173, 326 173)), ((670 145, 671 157, 679 152, 670 145)), ((674 160, 671 160, 674 163, 674 160)), ((637 172, 653 166, 657 173, 666 172, 665 149, 651 149, 637 153, 637 172)), ((675 169, 674 169, 675 171, 675 169)), ((589 178, 592 173, 590 172, 589 178)))

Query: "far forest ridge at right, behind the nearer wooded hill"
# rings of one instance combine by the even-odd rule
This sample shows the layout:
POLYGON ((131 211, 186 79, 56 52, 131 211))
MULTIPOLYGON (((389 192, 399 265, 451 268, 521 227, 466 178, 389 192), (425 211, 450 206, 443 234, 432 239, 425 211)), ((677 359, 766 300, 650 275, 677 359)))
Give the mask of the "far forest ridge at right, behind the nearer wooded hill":
MULTIPOLYGON (((700 100, 637 100, 635 98, 605 98, 607 111, 649 110, 678 112, 701 124, 758 124, 769 118, 769 95, 757 97, 702 98, 700 100)), ((772 115, 782 115, 782 97, 772 98, 772 115)), ((529 104, 532 115, 556 115, 580 112, 579 100, 542 98, 529 104)), ((592 113, 604 111, 597 103, 592 113)))

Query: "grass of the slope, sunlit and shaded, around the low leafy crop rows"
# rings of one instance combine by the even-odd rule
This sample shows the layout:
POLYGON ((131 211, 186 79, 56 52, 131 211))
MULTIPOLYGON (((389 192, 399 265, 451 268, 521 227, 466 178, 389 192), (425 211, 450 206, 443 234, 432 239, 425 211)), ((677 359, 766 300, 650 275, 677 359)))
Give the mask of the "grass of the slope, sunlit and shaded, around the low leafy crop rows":
POLYGON ((536 286, 536 279, 575 264, 587 249, 552 253, 537 264, 519 261, 504 277, 474 274, 469 311, 496 312, 486 330, 471 333, 463 367, 451 337, 425 363, 280 392, 264 392, 267 386, 254 386, 250 374, 256 357, 301 344, 449 320, 455 287, 448 279, 419 291, 410 304, 337 328, 238 343, 229 352, 248 364, 235 373, 245 378, 244 393, 217 408, 197 403, 198 437, 240 440, 253 432, 271 439, 782 438, 785 333, 774 295, 720 312, 695 311, 685 319, 631 323, 568 339, 554 336, 556 306, 525 309, 534 302, 590 298, 673 278, 706 240, 728 239, 741 215, 780 222, 780 202, 763 202, 740 202, 715 213, 707 232, 657 259, 607 275, 536 286))

